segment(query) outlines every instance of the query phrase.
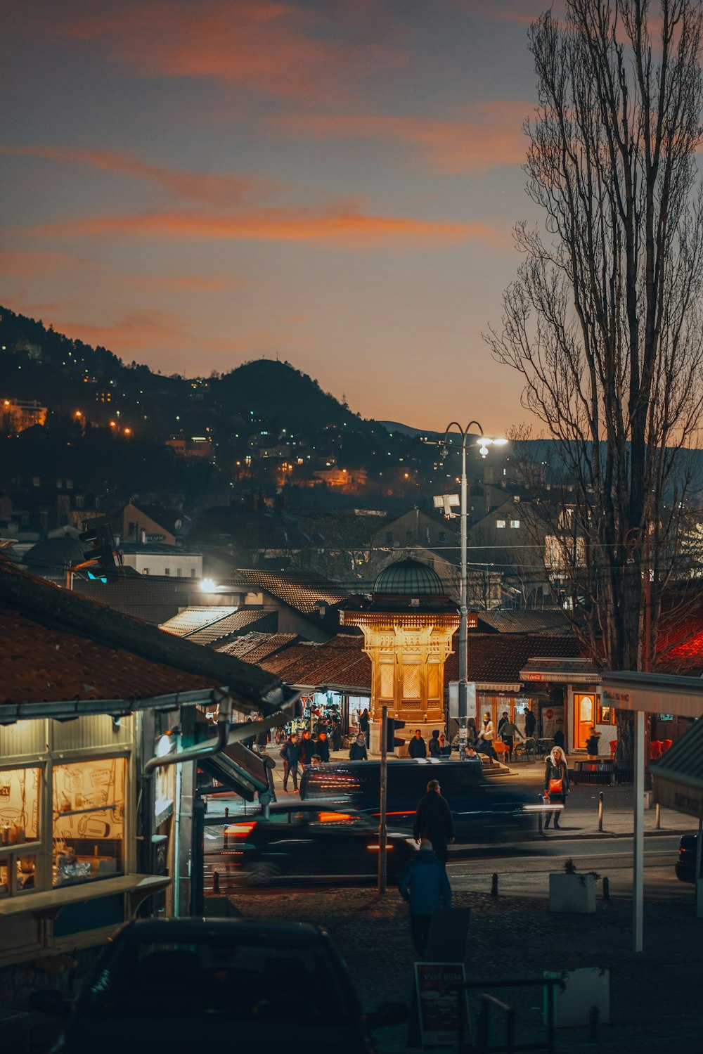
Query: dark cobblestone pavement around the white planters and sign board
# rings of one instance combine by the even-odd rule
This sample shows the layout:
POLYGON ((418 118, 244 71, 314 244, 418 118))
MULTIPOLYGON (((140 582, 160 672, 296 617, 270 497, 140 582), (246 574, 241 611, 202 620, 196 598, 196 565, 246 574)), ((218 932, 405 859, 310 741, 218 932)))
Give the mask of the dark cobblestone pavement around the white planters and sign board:
MULTIPOLYGON (((413 952, 405 904, 358 889, 261 891, 233 897, 247 916, 297 919, 325 925, 347 959, 364 1006, 409 1001, 413 952)), ((646 903, 644 952, 631 952, 631 903, 599 903, 594 915, 553 915, 546 900, 458 893, 454 906, 471 909, 468 980, 491 980, 493 994, 518 1010, 518 1042, 546 1039, 542 992, 501 989, 510 978, 539 978, 544 970, 598 967, 610 971, 611 1023, 598 1039, 588 1028, 560 1029, 559 1052, 660 1054, 678 1042, 696 1049, 700 1021, 703 921, 690 901, 646 903)), ((311 998, 314 994, 311 993, 311 998)), ((472 1017, 477 997, 471 997, 472 1017)), ((406 1029, 380 1030, 380 1051, 402 1051, 406 1029)), ((496 1028, 492 1041, 502 1041, 496 1028)))

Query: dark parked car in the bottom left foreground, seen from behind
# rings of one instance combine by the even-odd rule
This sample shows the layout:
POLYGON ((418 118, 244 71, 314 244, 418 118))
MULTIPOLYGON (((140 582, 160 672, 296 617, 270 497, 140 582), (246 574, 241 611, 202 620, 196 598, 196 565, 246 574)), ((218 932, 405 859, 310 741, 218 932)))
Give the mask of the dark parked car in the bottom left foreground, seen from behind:
MULTIPOLYGON (((33 1006, 56 1011, 52 994, 35 993, 33 1006)), ((365 1015, 344 959, 315 926, 139 919, 104 950, 54 1050, 369 1054, 371 1030, 406 1017, 398 1003, 365 1015)))

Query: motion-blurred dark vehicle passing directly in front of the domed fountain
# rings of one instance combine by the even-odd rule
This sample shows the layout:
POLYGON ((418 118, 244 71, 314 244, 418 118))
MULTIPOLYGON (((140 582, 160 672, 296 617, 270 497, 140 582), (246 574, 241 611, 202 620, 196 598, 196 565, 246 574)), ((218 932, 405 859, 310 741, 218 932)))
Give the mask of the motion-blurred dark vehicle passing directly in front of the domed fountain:
MULTIPOLYGON (((306 768, 300 798, 347 803, 376 820, 379 808, 379 762, 334 761, 306 768)), ((429 780, 440 781, 454 820, 457 842, 519 841, 534 833, 535 796, 507 782, 505 776, 485 774, 477 761, 394 759, 388 764, 388 823, 412 832, 417 802, 429 780), (531 808, 529 807, 531 804, 531 808), (528 806, 528 807, 526 807, 528 806)))

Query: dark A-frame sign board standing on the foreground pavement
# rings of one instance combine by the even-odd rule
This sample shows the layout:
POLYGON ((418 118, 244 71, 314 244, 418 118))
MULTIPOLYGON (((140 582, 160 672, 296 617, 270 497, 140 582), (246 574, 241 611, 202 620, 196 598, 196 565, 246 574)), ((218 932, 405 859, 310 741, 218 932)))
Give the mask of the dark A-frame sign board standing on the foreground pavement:
POLYGON ((469 1036, 466 992, 456 991, 466 981, 463 962, 416 962, 415 991, 423 1050, 455 1048, 463 1019, 469 1036))

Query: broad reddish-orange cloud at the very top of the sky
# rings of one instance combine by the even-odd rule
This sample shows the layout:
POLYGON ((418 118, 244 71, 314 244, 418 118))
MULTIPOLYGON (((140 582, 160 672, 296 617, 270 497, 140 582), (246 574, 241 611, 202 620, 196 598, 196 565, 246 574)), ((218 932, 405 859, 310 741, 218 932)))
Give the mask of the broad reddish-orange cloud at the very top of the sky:
MULTIPOLYGON (((139 75, 214 79, 308 100, 346 92, 354 75, 407 63, 397 46, 378 43, 383 38, 369 31, 351 43, 341 32, 330 38, 324 8, 275 0, 142 0, 111 3, 63 32, 103 46, 139 75)), ((345 5, 337 12, 344 17, 345 5)))

